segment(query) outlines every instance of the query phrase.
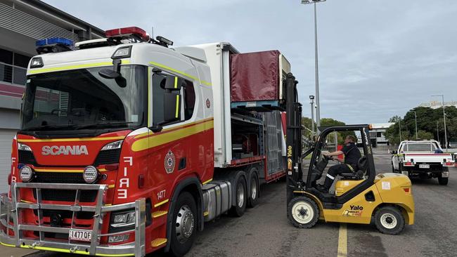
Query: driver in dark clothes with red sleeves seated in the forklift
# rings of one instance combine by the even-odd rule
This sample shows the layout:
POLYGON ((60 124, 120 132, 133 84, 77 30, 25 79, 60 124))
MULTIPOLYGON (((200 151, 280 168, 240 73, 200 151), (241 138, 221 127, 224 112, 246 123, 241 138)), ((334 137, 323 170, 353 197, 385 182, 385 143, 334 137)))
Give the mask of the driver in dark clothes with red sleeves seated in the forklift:
POLYGON ((333 180, 335 180, 337 175, 341 173, 351 173, 357 171, 357 162, 359 161, 361 154, 356 146, 355 141, 356 138, 349 135, 345 138, 345 146, 342 147, 342 150, 324 154, 328 157, 345 154, 345 164, 337 164, 335 166, 331 166, 330 169, 328 169, 326 181, 323 183, 323 185, 316 185, 317 190, 321 192, 328 192, 328 189, 332 186, 333 180))

